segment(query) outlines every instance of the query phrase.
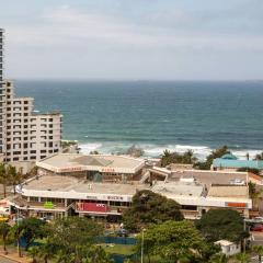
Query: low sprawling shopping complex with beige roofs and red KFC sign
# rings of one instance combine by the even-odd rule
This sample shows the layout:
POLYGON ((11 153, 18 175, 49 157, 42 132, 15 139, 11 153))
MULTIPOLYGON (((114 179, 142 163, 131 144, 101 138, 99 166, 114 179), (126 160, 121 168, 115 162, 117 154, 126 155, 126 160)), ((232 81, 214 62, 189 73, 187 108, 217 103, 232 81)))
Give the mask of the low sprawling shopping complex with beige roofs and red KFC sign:
POLYGON ((215 208, 231 208, 249 218, 252 199, 248 172, 169 170, 149 167, 144 159, 124 156, 58 153, 37 162, 38 174, 16 186, 11 210, 53 218, 69 215, 119 221, 140 190, 176 201, 187 219, 215 208))

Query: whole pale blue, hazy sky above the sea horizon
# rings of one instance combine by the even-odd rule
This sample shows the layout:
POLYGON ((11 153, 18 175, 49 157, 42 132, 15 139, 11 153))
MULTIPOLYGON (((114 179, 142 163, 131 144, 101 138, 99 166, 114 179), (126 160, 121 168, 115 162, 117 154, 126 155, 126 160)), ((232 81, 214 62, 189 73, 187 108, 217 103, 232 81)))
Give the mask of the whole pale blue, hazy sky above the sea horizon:
POLYGON ((0 0, 11 79, 263 79, 262 0, 0 0))

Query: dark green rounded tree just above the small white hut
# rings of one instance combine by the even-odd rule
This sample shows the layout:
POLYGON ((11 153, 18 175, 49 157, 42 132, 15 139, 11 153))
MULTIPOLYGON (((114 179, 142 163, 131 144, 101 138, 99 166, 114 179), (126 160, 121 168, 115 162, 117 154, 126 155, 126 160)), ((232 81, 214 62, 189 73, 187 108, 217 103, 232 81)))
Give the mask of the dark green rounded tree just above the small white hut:
POLYGON ((231 209, 210 209, 196 222, 196 227, 211 242, 221 239, 238 242, 248 237, 243 230, 243 218, 231 209))

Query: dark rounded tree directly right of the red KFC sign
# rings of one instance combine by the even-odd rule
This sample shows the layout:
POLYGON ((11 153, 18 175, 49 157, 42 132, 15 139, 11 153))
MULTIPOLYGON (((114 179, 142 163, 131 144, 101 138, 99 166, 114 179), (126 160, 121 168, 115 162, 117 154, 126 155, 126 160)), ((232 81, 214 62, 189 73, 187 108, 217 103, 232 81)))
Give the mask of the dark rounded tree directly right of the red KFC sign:
POLYGON ((175 201, 142 190, 134 195, 132 206, 124 211, 123 221, 127 229, 138 231, 149 224, 182 220, 180 208, 175 201))

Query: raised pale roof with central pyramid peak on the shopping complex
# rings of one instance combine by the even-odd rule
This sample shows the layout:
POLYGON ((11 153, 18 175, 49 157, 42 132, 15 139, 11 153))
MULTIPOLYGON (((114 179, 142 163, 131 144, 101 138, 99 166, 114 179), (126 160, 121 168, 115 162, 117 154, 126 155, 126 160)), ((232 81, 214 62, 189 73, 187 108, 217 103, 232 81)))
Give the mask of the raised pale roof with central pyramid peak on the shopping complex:
MULTIPOLYGON (((100 168, 103 171, 107 171, 107 168, 112 169, 129 169, 137 170, 145 165, 144 159, 132 158, 126 156, 113 156, 113 155, 81 155, 81 153, 58 153, 46 159, 43 159, 36 164, 44 169, 55 170, 56 172, 70 172, 79 170, 93 170, 100 168), (75 168, 75 169, 73 169, 75 168)), ((112 170, 110 170, 111 172, 112 170)), ((112 171, 113 172, 113 171, 112 171)), ((118 171, 122 172, 122 171, 118 171)), ((125 172, 125 170, 123 170, 125 172)), ((134 171, 135 172, 135 171, 134 171)))

